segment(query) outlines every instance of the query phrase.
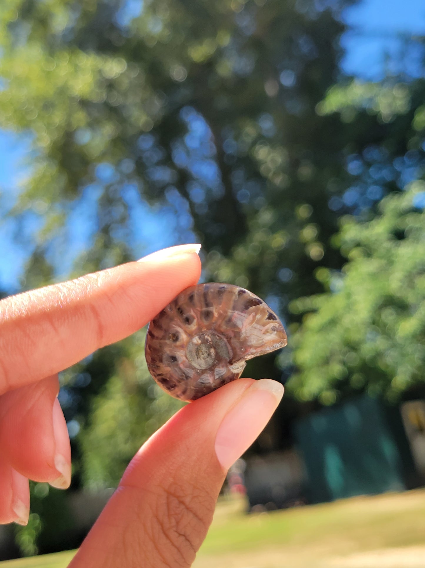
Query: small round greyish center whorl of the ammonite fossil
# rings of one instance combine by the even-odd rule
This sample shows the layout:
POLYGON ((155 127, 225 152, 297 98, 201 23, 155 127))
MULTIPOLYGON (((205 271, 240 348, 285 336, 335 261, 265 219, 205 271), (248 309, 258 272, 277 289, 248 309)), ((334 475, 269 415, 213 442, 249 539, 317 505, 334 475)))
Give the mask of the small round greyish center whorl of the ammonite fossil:
POLYGON ((186 357, 196 369, 208 369, 217 358, 229 361, 231 356, 232 350, 226 339, 213 331, 197 333, 186 348, 186 357))

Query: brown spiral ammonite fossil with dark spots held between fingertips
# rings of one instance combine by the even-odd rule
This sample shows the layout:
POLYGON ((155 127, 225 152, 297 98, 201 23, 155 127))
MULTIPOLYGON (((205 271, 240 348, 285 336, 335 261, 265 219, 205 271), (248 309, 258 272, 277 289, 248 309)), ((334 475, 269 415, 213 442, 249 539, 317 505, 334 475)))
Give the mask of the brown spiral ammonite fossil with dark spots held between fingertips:
POLYGON ((150 322, 145 355, 162 389, 196 400, 239 379, 248 359, 286 344, 283 325, 258 296, 206 283, 184 290, 150 322))

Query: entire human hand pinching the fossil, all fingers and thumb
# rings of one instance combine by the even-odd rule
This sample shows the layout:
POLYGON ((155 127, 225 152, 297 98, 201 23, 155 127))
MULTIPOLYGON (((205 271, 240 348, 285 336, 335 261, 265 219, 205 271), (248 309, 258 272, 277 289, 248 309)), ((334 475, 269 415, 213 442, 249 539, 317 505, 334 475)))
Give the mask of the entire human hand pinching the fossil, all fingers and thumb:
MULTIPOLYGON (((0 302, 0 523, 27 523, 28 479, 69 487, 58 372, 131 335, 196 284, 197 250, 172 247, 0 302)), ((228 468, 282 395, 275 381, 239 379, 177 412, 130 462, 70 566, 190 566, 228 468)))

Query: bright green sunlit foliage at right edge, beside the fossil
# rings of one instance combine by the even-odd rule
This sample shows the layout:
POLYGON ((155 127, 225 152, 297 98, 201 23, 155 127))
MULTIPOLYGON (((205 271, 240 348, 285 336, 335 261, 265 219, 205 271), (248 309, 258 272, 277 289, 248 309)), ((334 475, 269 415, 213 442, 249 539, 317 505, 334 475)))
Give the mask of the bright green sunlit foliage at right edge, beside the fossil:
POLYGON ((292 336, 301 400, 332 404, 356 390, 397 400, 425 368, 425 182, 386 197, 368 223, 342 220, 342 273, 318 269, 330 291, 291 303, 303 324, 292 336))

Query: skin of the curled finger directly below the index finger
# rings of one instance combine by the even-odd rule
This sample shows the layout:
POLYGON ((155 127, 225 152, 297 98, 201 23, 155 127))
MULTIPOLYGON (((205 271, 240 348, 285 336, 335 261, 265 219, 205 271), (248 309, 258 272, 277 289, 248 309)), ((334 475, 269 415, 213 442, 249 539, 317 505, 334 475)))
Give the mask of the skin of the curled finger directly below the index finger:
MULTIPOLYGON (((53 404, 57 400, 57 375, 6 392, 0 396, 0 453, 3 459, 33 481, 53 481, 57 443, 53 432, 53 404)), ((62 415, 63 416, 63 415, 62 415)), ((61 438, 61 450, 70 460, 69 438, 61 438)))

